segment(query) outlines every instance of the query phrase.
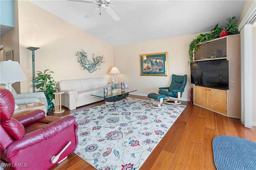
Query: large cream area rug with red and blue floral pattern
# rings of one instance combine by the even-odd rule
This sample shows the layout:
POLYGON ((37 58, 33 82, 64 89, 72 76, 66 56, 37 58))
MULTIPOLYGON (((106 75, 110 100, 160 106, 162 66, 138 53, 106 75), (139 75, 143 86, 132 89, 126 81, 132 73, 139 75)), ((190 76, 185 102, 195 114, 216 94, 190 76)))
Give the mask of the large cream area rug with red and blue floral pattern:
POLYGON ((185 105, 149 107, 151 101, 127 98, 74 113, 78 156, 99 170, 137 170, 182 113, 185 105))

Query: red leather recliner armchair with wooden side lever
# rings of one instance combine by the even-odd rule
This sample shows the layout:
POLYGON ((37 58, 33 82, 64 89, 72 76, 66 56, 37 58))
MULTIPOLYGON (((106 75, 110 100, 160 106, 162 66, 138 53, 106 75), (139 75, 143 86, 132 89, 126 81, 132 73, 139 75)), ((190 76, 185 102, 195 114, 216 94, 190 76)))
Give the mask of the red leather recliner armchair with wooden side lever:
POLYGON ((44 111, 35 110, 13 118, 12 93, 1 87, 0 97, 1 160, 6 162, 1 166, 46 170, 76 149, 78 125, 74 116, 45 117, 44 111))

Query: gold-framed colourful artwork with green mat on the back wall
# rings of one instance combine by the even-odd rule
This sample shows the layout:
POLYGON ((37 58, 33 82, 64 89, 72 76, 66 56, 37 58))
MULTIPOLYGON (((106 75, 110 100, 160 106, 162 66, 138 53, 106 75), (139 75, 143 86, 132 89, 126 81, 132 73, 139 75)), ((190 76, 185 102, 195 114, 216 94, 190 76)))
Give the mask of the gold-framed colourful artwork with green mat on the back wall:
POLYGON ((140 55, 140 75, 168 76, 168 53, 140 55))

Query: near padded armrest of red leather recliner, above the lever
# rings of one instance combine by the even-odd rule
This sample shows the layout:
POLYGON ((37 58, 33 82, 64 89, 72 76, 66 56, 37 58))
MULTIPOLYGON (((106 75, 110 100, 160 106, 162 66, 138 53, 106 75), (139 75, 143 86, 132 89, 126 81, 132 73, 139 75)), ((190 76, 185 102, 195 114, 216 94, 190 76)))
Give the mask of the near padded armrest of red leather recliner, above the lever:
MULTIPOLYGON (((42 118, 44 119, 44 118, 42 118)), ((54 137, 56 134, 61 133, 66 128, 73 126, 75 124, 75 117, 74 116, 66 116, 60 118, 60 120, 49 123, 45 127, 30 132, 28 134, 24 134, 24 136, 20 140, 15 140, 12 142, 8 148, 4 150, 4 154, 7 158, 13 156, 20 150, 26 149, 30 146, 38 144, 44 140, 54 137)))

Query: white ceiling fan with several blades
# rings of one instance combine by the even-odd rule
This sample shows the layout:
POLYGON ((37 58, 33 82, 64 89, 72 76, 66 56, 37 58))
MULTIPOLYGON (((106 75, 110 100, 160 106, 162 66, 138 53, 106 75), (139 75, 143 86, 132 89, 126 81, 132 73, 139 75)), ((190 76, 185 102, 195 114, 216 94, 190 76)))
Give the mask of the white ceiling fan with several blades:
POLYGON ((90 0, 68 0, 68 1, 74 1, 74 2, 86 2, 86 3, 91 3, 91 4, 97 4, 98 6, 92 9, 86 16, 85 18, 90 18, 92 17, 96 12, 98 12, 101 8, 105 9, 106 12, 115 20, 118 21, 120 20, 120 17, 114 12, 110 7, 114 7, 112 5, 113 2, 110 2, 110 0, 95 0, 95 1, 90 1, 90 0))

